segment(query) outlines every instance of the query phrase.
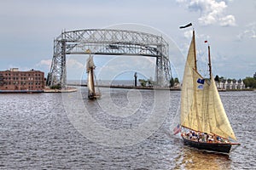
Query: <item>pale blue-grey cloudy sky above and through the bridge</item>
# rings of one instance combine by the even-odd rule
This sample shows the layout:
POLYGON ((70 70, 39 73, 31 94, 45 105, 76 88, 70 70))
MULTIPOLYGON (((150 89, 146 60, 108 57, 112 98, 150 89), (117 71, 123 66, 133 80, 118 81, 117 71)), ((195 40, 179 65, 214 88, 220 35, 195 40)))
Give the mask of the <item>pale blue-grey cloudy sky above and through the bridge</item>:
MULTIPOLYGON (((172 73, 182 78, 192 27, 180 30, 179 26, 191 22, 203 76, 207 75, 207 67, 203 66, 207 65, 207 40, 211 45, 214 75, 236 79, 253 77, 256 72, 255 16, 254 0, 2 1, 0 70, 18 67, 21 71, 44 71, 46 75, 53 56, 54 38, 61 31, 126 28, 163 35, 171 44, 172 73)), ((86 55, 67 56, 67 79, 83 77, 87 58, 86 55)), ((95 63, 101 79, 132 79, 134 71, 142 77, 154 77, 154 60, 147 57, 95 56, 95 63)))

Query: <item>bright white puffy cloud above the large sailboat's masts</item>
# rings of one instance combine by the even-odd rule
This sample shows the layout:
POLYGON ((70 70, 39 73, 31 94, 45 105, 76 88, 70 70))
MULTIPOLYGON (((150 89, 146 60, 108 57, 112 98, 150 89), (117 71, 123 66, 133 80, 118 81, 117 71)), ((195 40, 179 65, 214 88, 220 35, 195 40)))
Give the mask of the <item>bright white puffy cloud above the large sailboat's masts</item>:
POLYGON ((177 0, 184 3, 191 12, 200 12, 199 23, 202 26, 218 24, 219 26, 236 26, 235 16, 224 15, 227 1, 216 0, 177 0))

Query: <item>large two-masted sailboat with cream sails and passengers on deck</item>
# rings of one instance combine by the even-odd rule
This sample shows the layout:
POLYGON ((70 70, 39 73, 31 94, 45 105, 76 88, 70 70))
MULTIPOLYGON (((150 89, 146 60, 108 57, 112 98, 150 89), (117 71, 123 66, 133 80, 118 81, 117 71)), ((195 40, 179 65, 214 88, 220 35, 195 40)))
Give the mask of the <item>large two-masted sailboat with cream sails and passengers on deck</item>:
MULTIPOLYGON (((180 107, 180 130, 184 144, 218 152, 229 153, 230 139, 235 133, 224 111, 215 81, 212 78, 210 47, 208 46, 210 78, 204 78, 197 71, 195 31, 183 74, 180 107)), ((178 125, 179 126, 179 125, 178 125)), ((177 133, 177 127, 176 132, 177 133)), ((239 145, 239 144, 238 144, 239 145)))

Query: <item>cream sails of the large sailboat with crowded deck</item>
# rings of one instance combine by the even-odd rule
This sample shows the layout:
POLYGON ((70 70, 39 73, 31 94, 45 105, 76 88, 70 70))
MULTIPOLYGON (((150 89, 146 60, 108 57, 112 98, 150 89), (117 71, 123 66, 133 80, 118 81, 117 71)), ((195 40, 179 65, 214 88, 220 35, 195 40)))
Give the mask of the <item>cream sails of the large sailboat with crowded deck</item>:
POLYGON ((183 127, 236 139, 214 79, 205 79, 196 69, 194 31, 183 75, 180 120, 183 127))

